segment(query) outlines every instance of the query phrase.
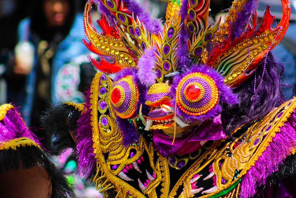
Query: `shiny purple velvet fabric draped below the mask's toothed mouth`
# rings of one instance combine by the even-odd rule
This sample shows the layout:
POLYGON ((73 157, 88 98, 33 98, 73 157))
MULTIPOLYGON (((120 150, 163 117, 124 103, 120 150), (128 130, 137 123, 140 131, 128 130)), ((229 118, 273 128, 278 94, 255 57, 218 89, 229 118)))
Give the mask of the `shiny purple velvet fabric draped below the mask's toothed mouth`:
POLYGON ((173 145, 173 138, 164 134, 162 130, 152 131, 155 149, 165 157, 173 154, 192 153, 201 147, 200 141, 224 138, 226 138, 226 135, 222 130, 221 115, 216 116, 213 120, 208 120, 201 126, 197 126, 192 132, 187 132, 182 137, 176 137, 173 145))

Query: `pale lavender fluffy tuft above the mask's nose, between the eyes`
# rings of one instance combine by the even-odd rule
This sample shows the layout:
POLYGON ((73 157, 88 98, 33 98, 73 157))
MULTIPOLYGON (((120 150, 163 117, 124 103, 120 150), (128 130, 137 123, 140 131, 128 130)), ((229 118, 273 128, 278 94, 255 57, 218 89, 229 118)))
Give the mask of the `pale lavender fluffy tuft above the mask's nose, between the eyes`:
POLYGON ((154 51, 156 50, 156 47, 153 49, 147 49, 145 53, 139 58, 138 62, 138 77, 142 84, 146 86, 151 86, 155 83, 156 80, 156 74, 153 71, 153 68, 155 67, 155 61, 156 57, 154 54, 154 51))

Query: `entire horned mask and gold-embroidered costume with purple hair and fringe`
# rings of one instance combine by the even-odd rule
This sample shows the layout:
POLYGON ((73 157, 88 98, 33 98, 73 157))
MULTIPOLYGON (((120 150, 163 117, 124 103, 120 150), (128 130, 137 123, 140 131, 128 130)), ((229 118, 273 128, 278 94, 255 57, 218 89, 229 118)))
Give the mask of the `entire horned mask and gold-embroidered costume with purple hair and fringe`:
POLYGON ((289 23, 281 2, 272 28, 256 0, 234 1, 221 24, 208 0, 169 1, 163 26, 136 1, 89 0, 83 43, 99 72, 86 102, 54 107, 46 129, 59 149, 70 132, 104 197, 258 196, 295 174, 296 99, 284 101, 269 53, 289 23))

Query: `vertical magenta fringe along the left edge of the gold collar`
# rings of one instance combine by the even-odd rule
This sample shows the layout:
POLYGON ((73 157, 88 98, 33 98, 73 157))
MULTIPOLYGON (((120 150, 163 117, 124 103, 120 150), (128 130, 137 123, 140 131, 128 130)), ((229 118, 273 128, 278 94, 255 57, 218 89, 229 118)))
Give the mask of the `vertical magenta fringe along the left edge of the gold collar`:
POLYGON ((86 102, 84 105, 85 111, 81 113, 76 129, 77 149, 78 154, 78 171, 84 176, 90 176, 96 167, 96 159, 92 140, 92 125, 91 125, 91 92, 86 93, 86 102))

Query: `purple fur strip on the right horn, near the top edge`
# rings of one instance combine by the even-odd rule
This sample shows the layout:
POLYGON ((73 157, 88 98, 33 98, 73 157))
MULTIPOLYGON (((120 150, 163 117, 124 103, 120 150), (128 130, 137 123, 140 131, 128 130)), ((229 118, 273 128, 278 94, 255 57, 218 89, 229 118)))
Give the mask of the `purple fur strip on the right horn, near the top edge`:
MULTIPOLYGON (((250 18, 254 10, 258 6, 258 0, 248 0, 243 5, 242 11, 237 13, 237 18, 234 21, 233 35, 235 38, 239 37, 247 28, 250 18)), ((234 39, 234 38, 233 38, 234 39)))

